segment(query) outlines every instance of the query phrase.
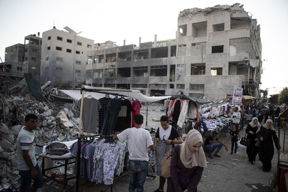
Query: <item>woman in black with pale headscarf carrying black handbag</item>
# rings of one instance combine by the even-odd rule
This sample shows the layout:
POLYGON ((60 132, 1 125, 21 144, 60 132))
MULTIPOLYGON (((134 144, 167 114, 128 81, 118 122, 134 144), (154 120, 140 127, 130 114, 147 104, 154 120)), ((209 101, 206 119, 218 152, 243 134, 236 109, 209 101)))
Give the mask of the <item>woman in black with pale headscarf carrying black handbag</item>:
POLYGON ((248 161, 251 162, 251 164, 254 165, 256 155, 258 153, 258 147, 255 146, 255 144, 258 141, 258 138, 256 136, 257 130, 261 127, 260 123, 258 122, 258 119, 254 117, 252 121, 247 125, 246 128, 246 134, 247 138, 251 140, 250 146, 247 147, 246 153, 248 155, 248 161))

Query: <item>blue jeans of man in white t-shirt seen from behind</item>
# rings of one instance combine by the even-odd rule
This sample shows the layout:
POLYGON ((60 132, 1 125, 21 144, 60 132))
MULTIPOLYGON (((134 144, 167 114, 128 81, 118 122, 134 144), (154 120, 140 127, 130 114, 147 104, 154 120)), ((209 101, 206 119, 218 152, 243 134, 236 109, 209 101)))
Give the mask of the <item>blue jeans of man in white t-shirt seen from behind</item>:
POLYGON ((148 173, 148 161, 129 160, 128 174, 130 179, 129 192, 144 191, 144 182, 148 173))

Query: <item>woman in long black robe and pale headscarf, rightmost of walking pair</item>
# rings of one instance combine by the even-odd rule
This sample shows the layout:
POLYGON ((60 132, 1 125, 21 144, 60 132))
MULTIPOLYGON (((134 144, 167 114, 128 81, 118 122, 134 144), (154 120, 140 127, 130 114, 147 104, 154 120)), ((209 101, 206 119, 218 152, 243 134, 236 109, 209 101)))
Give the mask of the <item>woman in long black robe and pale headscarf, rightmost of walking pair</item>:
POLYGON ((275 129, 272 127, 272 120, 267 119, 266 123, 258 129, 256 134, 260 140, 258 155, 259 160, 262 162, 262 171, 267 172, 271 170, 271 160, 274 155, 273 141, 278 149, 278 138, 275 129))

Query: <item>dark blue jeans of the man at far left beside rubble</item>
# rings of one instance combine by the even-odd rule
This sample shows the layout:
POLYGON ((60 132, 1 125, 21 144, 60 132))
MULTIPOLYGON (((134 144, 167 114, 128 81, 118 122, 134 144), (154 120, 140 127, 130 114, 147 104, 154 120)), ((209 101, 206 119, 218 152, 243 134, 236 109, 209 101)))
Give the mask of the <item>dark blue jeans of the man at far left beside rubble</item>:
MULTIPOLYGON (((44 179, 43 179, 43 176, 42 176, 42 173, 38 164, 36 164, 35 169, 38 172, 38 179, 34 180, 32 187, 34 188, 43 187, 44 179)), ((21 184, 20 184, 19 192, 29 192, 31 183, 32 183, 31 170, 26 170, 26 171, 19 170, 19 175, 21 176, 20 177, 21 184)))

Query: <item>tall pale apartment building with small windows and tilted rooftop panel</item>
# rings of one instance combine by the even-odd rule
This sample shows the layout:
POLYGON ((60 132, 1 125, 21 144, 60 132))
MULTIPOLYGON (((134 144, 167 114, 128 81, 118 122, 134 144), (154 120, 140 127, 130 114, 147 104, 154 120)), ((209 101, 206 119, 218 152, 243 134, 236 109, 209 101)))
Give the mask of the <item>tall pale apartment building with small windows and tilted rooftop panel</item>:
POLYGON ((86 54, 93 49, 94 40, 78 36, 70 28, 67 30, 70 32, 53 27, 43 32, 41 81, 72 80, 76 87, 85 82, 86 54))

